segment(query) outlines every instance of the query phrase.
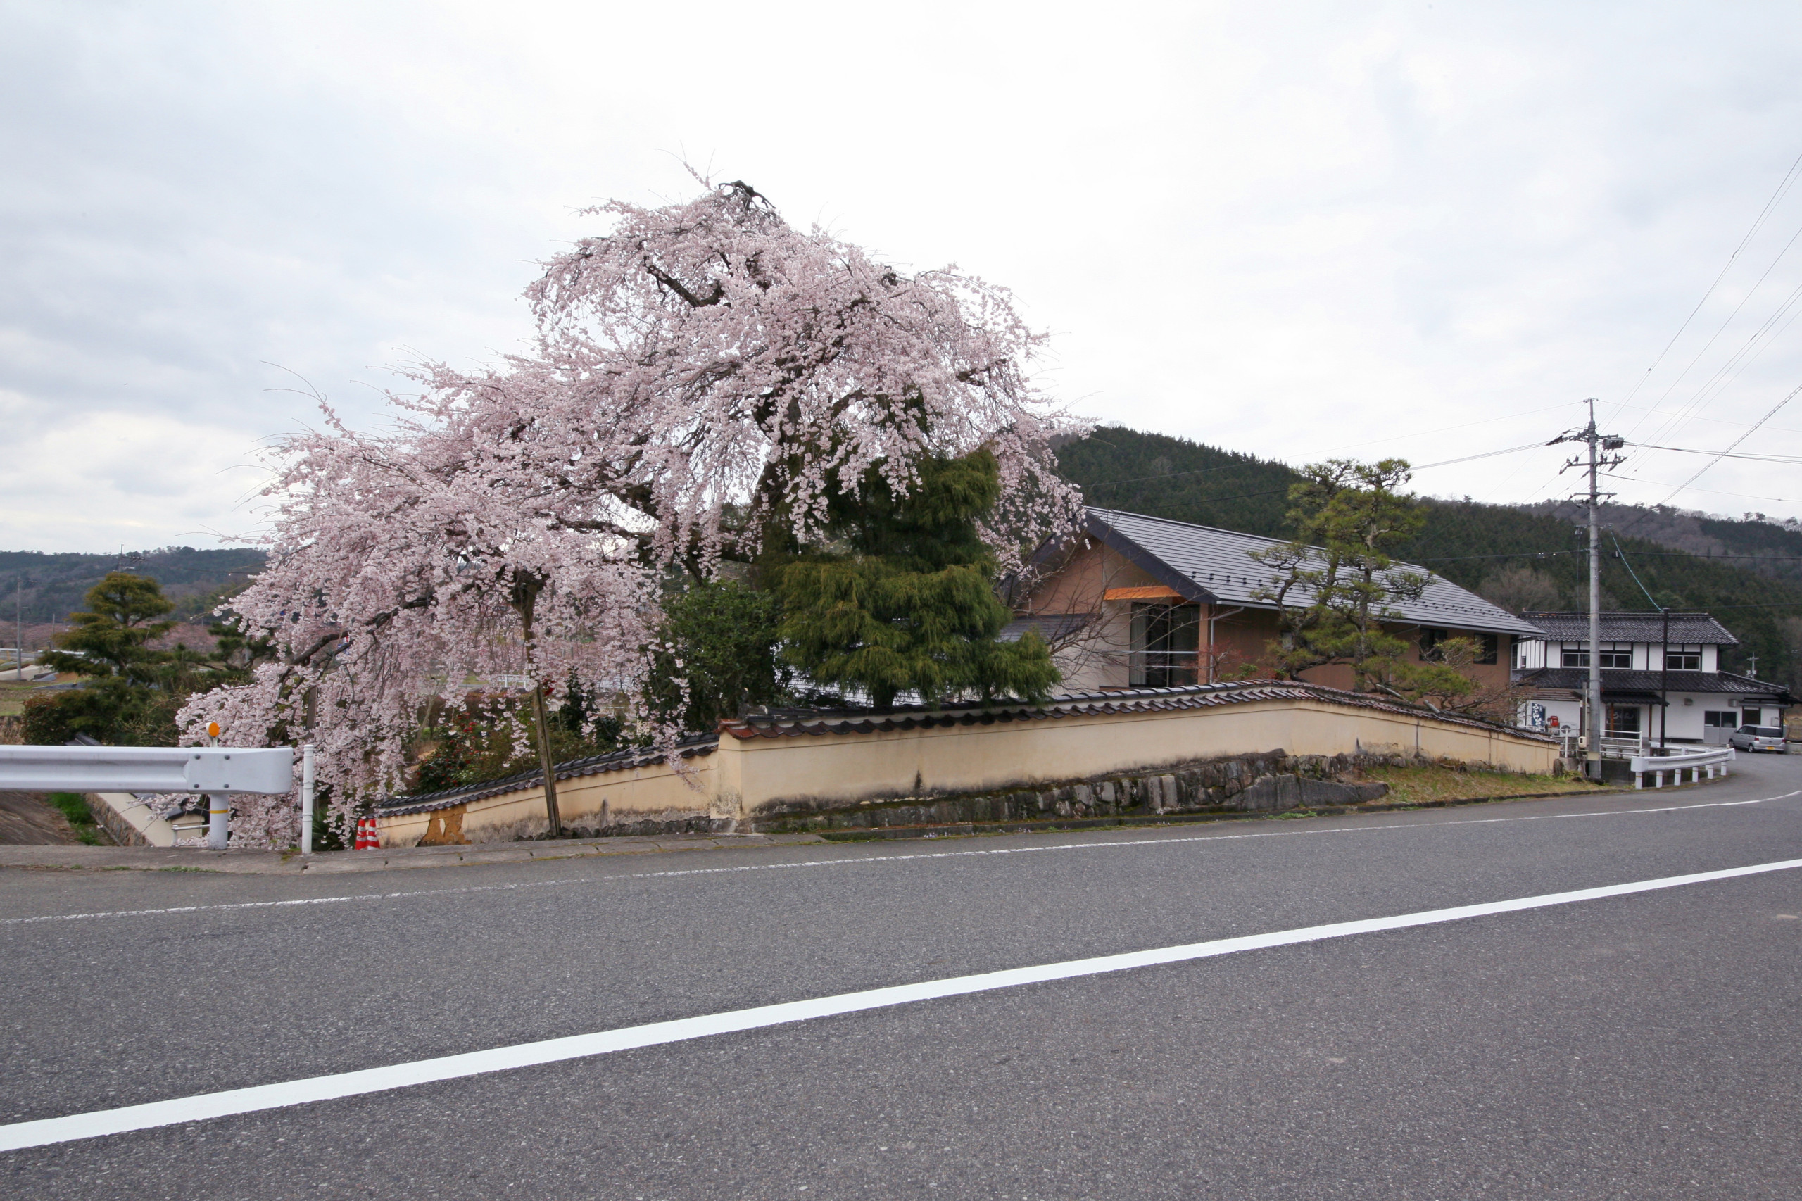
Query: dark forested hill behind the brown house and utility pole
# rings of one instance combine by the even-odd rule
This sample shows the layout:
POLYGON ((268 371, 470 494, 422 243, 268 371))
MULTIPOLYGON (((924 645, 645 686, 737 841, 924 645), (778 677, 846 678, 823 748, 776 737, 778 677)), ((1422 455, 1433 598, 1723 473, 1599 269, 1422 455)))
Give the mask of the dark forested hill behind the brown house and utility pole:
MULTIPOLYGON (((1090 505, 1267 537, 1294 534, 1287 492, 1297 474, 1287 463, 1121 426, 1058 447, 1058 462, 1090 505)), ((1625 554, 1625 563, 1615 559, 1604 539, 1606 608, 1654 608, 1631 564, 1661 604, 1710 610, 1739 637, 1730 671, 1748 669, 1757 655, 1759 676, 1802 692, 1802 528, 1629 505, 1611 505, 1604 518, 1625 554)), ((1584 555, 1571 554, 1584 546, 1580 519, 1573 505, 1429 500, 1425 527, 1397 554, 1506 608, 1577 610, 1588 588, 1584 555)))

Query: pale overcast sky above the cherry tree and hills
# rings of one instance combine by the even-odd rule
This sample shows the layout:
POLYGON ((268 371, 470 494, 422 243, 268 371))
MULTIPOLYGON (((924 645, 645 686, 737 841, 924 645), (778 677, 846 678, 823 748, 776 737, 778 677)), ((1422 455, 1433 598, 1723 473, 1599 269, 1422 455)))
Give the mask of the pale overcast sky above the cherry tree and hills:
MULTIPOLYGON (((0 548, 254 532, 308 390, 377 424, 393 366, 492 362, 577 211, 685 159, 1015 289, 1094 420, 1442 463, 1600 397, 1719 451, 1802 384, 1798 52, 1784 4, 0 0, 0 548)), ((1561 496, 1562 449, 1416 485, 1561 496)), ((1739 453, 1802 454, 1802 397, 1739 453)))

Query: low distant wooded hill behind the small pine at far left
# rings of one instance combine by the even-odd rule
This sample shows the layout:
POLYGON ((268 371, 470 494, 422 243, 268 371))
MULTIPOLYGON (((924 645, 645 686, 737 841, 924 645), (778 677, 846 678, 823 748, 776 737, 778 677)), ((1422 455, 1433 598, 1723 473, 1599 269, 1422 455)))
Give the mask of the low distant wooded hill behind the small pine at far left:
MULTIPOLYGON (((11 628, 14 599, 22 602, 27 624, 67 620, 81 608, 88 588, 121 564, 162 584, 162 595, 177 602, 178 617, 200 617, 211 608, 205 604, 209 597, 241 588, 250 575, 263 570, 263 552, 160 546, 135 552, 121 561, 121 555, 0 550, 0 626, 11 628), (22 590, 20 581, 23 581, 22 590)), ((7 633, 0 642, 11 646, 13 638, 7 633)))

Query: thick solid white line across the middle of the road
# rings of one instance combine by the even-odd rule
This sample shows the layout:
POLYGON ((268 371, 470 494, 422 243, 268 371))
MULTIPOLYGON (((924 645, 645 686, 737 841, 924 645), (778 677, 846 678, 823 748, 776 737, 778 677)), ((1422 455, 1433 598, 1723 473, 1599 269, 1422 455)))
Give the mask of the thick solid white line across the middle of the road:
POLYGON ((202 1093, 198 1096, 178 1096, 175 1100, 151 1102, 148 1105, 99 1109, 94 1113, 68 1114, 65 1118, 41 1118, 38 1122, 14 1122, 11 1125, 0 1125, 0 1151, 47 1147, 50 1143, 67 1143, 77 1138, 101 1138, 106 1134, 124 1134, 126 1131, 146 1131, 160 1125, 205 1122, 207 1118, 225 1118, 240 1113, 306 1105, 341 1096, 386 1093, 389 1089, 404 1089, 413 1087, 414 1084, 431 1084, 434 1080, 458 1080, 463 1077, 487 1075, 490 1071, 555 1064, 571 1059, 607 1055, 611 1051, 629 1051, 642 1046, 687 1042, 688 1039, 706 1039, 710 1035, 733 1033, 739 1030, 760 1030, 764 1026, 804 1022, 816 1017, 831 1017, 834 1013, 881 1010, 896 1004, 912 1004, 915 1001, 932 1001, 937 997, 960 997, 973 992, 993 992, 997 988, 1018 988, 1022 985, 1038 985, 1054 979, 1101 976, 1105 972, 1124 972, 1162 963, 1209 959, 1215 956, 1231 956, 1242 950, 1265 950, 1269 947, 1315 943, 1328 938, 1348 938, 1352 934, 1404 931, 1415 925, 1461 921, 1465 918, 1485 918, 1497 912, 1544 909, 1546 905, 1571 905, 1607 896, 1674 889, 1687 884, 1755 876, 1768 871, 1789 871, 1793 867, 1802 867, 1802 858, 1788 858, 1777 864, 1753 864, 1750 867, 1726 867, 1723 871, 1699 871, 1688 876, 1638 880, 1634 884, 1609 884, 1606 887, 1577 889, 1573 893, 1546 893, 1543 896, 1519 896, 1515 900, 1483 902, 1479 905, 1427 909, 1424 912, 1406 912, 1391 918, 1333 921, 1330 925, 1308 925, 1296 931, 1276 931, 1272 934, 1216 938, 1207 943, 1189 943, 1186 947, 1159 947, 1153 950, 1132 950, 1117 956, 1097 956, 1094 959, 1067 959, 1063 963, 982 972, 978 976, 955 976, 950 979, 932 979, 917 985, 869 988, 865 992, 845 992, 836 997, 787 1001, 784 1004, 760 1004, 750 1010, 683 1017, 670 1022, 625 1026, 623 1030, 602 1030, 598 1033, 544 1039, 541 1042, 521 1042, 517 1046, 501 1046, 488 1051, 422 1059, 411 1064, 366 1068, 362 1071, 342 1071, 330 1077, 287 1080, 283 1084, 261 1084, 249 1089, 229 1089, 223 1093, 202 1093))

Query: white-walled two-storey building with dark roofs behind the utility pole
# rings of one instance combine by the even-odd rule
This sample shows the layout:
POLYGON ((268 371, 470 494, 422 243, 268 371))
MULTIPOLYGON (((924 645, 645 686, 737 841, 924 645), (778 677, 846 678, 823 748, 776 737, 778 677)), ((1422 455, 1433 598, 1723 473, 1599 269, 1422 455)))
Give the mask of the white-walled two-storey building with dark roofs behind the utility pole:
MULTIPOLYGON (((1528 689, 1524 723, 1580 732, 1589 615, 1523 617, 1544 635, 1515 646, 1514 680, 1528 689)), ((1739 646, 1721 622, 1670 613, 1669 638, 1658 613, 1602 613, 1604 738, 1723 743, 1741 725, 1782 725, 1791 696, 1780 683, 1721 671, 1721 647, 1739 646)))

